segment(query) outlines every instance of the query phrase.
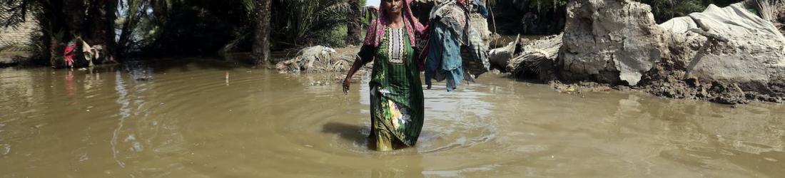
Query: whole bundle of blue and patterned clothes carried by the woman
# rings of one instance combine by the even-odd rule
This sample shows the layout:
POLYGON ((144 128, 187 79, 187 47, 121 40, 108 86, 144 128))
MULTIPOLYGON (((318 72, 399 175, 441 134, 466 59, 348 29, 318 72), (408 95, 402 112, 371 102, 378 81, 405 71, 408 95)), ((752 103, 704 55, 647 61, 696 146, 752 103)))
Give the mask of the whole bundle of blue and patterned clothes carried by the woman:
POLYGON ((426 39, 425 85, 431 89, 431 80, 447 80, 447 91, 458 87, 464 79, 473 81, 473 76, 488 71, 487 45, 482 36, 470 23, 470 14, 479 13, 487 18, 487 9, 479 0, 447 0, 435 5, 429 15, 429 27, 422 39, 426 39), (469 59, 462 59, 461 46, 469 51, 469 59), (468 68, 465 68, 468 67, 468 68), (473 71, 467 74, 466 71, 473 71))

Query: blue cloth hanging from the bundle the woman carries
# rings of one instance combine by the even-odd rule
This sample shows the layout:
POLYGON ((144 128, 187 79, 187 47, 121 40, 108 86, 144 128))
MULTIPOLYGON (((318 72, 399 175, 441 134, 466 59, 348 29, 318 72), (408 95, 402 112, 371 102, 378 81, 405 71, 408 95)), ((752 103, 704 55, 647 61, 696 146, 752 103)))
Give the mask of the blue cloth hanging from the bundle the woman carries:
POLYGON ((431 89, 431 79, 437 82, 447 79, 447 91, 452 91, 463 80, 460 39, 446 25, 433 24, 425 60, 425 85, 431 89))

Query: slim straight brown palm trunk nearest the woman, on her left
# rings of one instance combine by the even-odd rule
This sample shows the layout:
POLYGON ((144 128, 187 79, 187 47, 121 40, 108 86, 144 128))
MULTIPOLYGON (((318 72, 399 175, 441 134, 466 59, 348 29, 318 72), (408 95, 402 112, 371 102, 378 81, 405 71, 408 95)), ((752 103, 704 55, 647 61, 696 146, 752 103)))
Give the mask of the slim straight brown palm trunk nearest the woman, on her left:
POLYGON ((256 29, 254 31, 254 61, 266 64, 270 57, 270 8, 272 0, 256 0, 256 29))

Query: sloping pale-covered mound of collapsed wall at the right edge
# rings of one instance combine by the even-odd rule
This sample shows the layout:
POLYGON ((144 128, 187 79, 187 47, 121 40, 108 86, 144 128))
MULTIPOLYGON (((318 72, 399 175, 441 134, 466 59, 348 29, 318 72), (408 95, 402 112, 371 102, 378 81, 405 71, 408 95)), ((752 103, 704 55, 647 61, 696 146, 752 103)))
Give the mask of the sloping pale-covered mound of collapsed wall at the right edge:
POLYGON ((733 95, 709 96, 710 100, 782 100, 785 37, 771 22, 747 11, 743 3, 725 8, 709 5, 703 13, 678 17, 660 27, 673 37, 670 47, 681 49, 670 60, 682 66, 682 78, 697 82, 692 87, 701 90, 698 95, 710 95, 704 88, 723 88, 733 95))

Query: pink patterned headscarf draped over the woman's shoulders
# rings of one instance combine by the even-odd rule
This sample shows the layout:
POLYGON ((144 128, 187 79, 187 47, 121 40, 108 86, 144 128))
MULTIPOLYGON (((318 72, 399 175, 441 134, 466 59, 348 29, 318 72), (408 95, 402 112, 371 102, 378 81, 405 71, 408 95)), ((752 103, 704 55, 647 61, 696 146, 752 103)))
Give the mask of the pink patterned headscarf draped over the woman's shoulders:
MULTIPOLYGON (((417 20, 417 17, 414 17, 414 13, 411 13, 411 8, 409 5, 411 4, 412 0, 403 0, 403 23, 406 24, 406 32, 409 34, 409 42, 411 45, 415 45, 415 36, 417 34, 422 34, 425 31, 425 27, 420 24, 420 20, 417 20)), ((384 2, 382 2, 384 3, 384 2)), ((363 45, 373 45, 374 47, 379 46, 379 43, 382 43, 382 39, 385 37, 385 29, 387 29, 387 24, 389 24, 387 20, 387 9, 384 5, 379 5, 378 11, 378 18, 374 20, 368 27, 368 31, 365 35, 365 42, 363 45)))

